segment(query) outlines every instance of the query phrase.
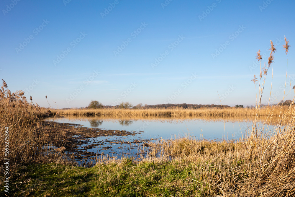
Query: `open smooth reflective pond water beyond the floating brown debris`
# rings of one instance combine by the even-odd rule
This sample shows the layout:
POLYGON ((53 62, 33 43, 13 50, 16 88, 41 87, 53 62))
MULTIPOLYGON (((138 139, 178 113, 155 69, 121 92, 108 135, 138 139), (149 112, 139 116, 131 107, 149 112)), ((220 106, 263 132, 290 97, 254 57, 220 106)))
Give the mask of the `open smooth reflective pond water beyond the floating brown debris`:
POLYGON ((246 117, 238 120, 222 119, 138 119, 138 118, 46 118, 46 121, 57 120, 60 123, 75 123, 89 128, 109 130, 126 130, 141 132, 142 138, 175 138, 186 135, 202 139, 237 139, 244 137, 252 122, 246 117))

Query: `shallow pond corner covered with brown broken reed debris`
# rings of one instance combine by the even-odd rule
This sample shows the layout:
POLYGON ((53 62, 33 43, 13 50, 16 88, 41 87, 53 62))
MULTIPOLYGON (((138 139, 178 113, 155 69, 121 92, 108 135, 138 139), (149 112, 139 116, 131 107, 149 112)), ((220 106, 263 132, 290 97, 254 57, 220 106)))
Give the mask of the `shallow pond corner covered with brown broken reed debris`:
POLYGON ((148 142, 154 139, 131 139, 141 134, 136 131, 89 128, 75 123, 41 122, 42 132, 48 138, 49 151, 63 151, 75 160, 91 160, 100 155, 142 154, 148 142))

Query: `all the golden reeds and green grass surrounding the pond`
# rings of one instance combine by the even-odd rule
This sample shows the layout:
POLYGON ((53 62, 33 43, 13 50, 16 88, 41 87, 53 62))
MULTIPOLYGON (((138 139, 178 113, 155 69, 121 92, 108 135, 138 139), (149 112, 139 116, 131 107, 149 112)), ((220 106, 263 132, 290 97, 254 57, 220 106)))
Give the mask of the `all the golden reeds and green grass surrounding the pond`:
MULTIPOLYGON (((284 49, 289 50, 289 41, 284 49)), ((273 63, 272 45, 269 65, 273 63)), ((258 61, 261 61, 260 51, 258 61)), ((267 75, 259 81, 260 106, 267 75)), ((45 108, 27 102, 23 92, 11 93, 3 81, 0 91, 1 127, 9 127, 10 195, 15 196, 295 196, 295 105, 264 108, 86 109, 51 110, 63 115, 192 116, 249 115, 251 133, 232 141, 197 140, 191 136, 146 144, 149 156, 141 161, 101 157, 91 168, 69 165, 60 146, 50 153, 38 117, 45 108), (278 123, 265 133, 267 122, 278 123), (60 148, 58 148, 60 147, 60 148), (59 151, 58 151, 59 150, 59 151), (59 164, 58 164, 59 163, 59 164)), ((32 98, 31 98, 32 100, 32 98)), ((284 103, 284 101, 282 101, 284 103)), ((294 97, 290 103, 294 103, 294 97)), ((58 128, 56 128, 58 130, 58 128)), ((58 135, 58 132, 55 132, 58 135)), ((1 129, 1 139, 4 130, 1 129)), ((66 143, 58 138, 58 143, 66 143)), ((58 144, 57 144, 58 145, 58 144)), ((4 153, 4 144, 1 143, 4 153)), ((3 154, 2 154, 3 155, 3 154)), ((1 157, 3 166, 3 157, 1 157)), ((1 173, 3 173, 1 167, 1 173)), ((1 178, 3 183, 4 178, 1 178)), ((1 192, 4 192, 1 185, 1 192)))

